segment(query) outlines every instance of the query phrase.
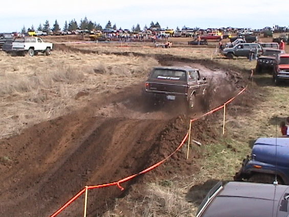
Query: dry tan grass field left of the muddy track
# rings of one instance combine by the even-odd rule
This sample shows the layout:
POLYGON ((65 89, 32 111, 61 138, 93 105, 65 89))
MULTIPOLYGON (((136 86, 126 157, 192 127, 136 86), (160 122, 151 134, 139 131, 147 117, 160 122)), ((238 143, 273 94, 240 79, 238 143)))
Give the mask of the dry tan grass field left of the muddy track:
POLYGON ((77 110, 95 97, 91 94, 138 83, 158 62, 149 57, 56 51, 33 58, 1 52, 0 64, 0 138, 5 138, 77 110))

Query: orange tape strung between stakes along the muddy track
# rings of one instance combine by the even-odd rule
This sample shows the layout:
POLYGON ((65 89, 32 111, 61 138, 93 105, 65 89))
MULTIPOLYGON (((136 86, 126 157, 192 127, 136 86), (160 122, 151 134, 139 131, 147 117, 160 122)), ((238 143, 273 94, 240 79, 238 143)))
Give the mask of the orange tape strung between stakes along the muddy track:
MULTIPOLYGON (((210 112, 207 112, 206 114, 204 114, 204 115, 202 115, 202 116, 200 116, 200 117, 198 117, 198 118, 191 119, 190 121, 191 121, 191 122, 194 122, 194 121, 196 121, 196 120, 198 120, 198 119, 201 119, 201 118, 203 118, 203 117, 205 117, 205 116, 207 116, 207 115, 210 115, 210 114, 212 114, 212 113, 220 110, 221 108, 224 107, 225 104, 228 104, 228 103, 232 102, 237 96, 239 96, 240 94, 242 94, 246 89, 247 89, 247 87, 244 88, 244 89, 242 89, 236 96, 234 96, 233 98, 229 99, 229 100, 228 100, 227 102, 225 102, 223 105, 214 108, 214 109, 211 110, 210 112)), ((121 179, 121 180, 119 180, 119 181, 117 181, 117 182, 112 182, 112 183, 107 183, 107 184, 101 184, 101 185, 92 185, 92 186, 88 186, 87 189, 103 188, 103 187, 109 187, 109 186, 114 186, 114 185, 116 185, 116 186, 119 187, 121 190, 124 190, 124 188, 120 185, 121 183, 124 183, 124 182, 127 182, 127 181, 131 180, 131 179, 134 179, 135 177, 137 177, 137 176, 139 176, 139 175, 142 175, 142 174, 144 174, 144 173, 146 173, 146 172, 148 172, 148 171, 150 171, 150 170, 152 170, 152 169, 160 166, 161 164, 163 164, 167 159, 169 159, 173 154, 175 154, 176 151, 180 150, 180 148, 181 148, 181 147, 184 145, 184 143, 186 142, 186 140, 187 140, 187 138, 188 138, 188 135, 189 135, 189 133, 186 134, 186 136, 185 136, 184 139, 182 140, 181 144, 180 144, 169 156, 167 156, 165 159, 161 160, 160 162, 155 163, 155 164, 151 165, 150 167, 148 167, 148 168, 140 171, 139 173, 136 173, 136 174, 131 175, 131 176, 129 176, 129 177, 123 178, 123 179, 121 179)), ((58 209, 58 210, 57 210, 53 215, 51 215, 50 217, 55 217, 56 215, 58 215, 63 209, 65 209, 66 207, 68 207, 73 201, 75 201, 75 200, 76 200, 79 196, 81 196, 81 194, 84 193, 84 192, 85 192, 85 188, 82 189, 81 191, 79 191, 79 192, 76 194, 76 196, 74 196, 71 200, 69 200, 67 203, 65 203, 60 209, 58 209)))

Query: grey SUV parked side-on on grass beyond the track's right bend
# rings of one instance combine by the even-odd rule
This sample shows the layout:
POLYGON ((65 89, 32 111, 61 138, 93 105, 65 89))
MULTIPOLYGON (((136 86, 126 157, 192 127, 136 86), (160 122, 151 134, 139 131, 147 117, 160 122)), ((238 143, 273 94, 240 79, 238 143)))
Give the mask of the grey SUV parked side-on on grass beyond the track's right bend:
POLYGON ((250 54, 252 52, 256 52, 257 56, 261 55, 262 54, 261 46, 257 43, 241 43, 235 45, 233 48, 225 48, 223 51, 224 55, 229 59, 234 58, 234 56, 236 57, 244 56, 249 59, 250 54))

